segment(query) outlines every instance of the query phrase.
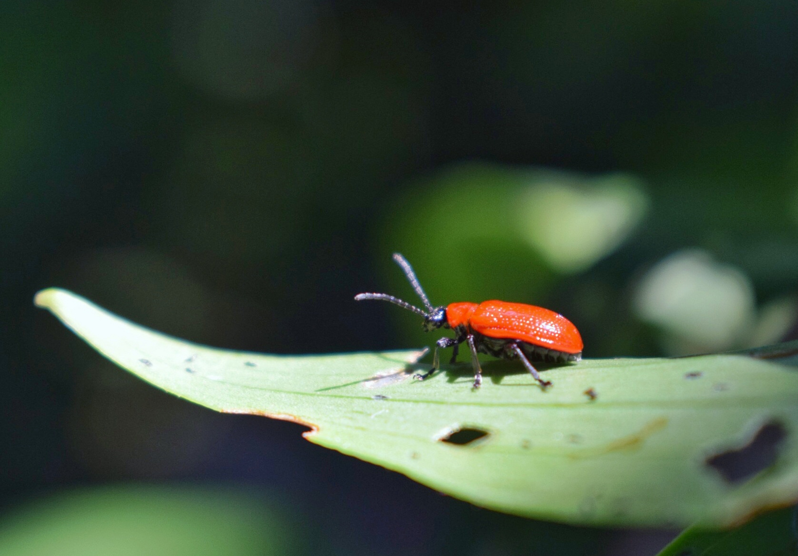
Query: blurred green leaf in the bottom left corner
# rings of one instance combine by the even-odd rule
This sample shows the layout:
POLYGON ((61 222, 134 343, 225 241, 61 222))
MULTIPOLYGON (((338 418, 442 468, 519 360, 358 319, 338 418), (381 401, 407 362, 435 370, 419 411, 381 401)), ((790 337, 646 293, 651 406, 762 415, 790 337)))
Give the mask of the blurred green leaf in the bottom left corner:
POLYGON ((0 520, 3 556, 278 556, 290 522, 251 494, 117 485, 69 490, 0 520))

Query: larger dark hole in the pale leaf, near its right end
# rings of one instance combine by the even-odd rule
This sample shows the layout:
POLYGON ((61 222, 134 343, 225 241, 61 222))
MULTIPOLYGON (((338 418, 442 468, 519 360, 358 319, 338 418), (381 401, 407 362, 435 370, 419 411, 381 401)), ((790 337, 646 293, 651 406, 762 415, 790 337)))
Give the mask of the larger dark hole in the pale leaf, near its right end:
POLYGON ((772 466, 780 444, 787 438, 784 425, 776 421, 765 423, 744 447, 727 450, 706 459, 727 483, 740 483, 772 466))

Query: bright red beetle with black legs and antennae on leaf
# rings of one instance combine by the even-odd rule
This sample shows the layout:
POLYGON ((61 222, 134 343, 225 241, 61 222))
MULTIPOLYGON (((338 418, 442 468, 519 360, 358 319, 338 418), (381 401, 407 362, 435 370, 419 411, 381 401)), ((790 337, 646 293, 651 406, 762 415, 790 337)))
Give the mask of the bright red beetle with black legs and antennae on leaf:
POLYGON ((437 341, 433 368, 424 374, 414 375, 414 378, 428 379, 440 369, 440 348, 454 348, 450 363, 456 363, 457 351, 463 342, 468 342, 468 348, 471 349, 475 389, 482 384, 482 368, 476 358, 477 353, 486 353, 500 359, 520 359, 544 390, 551 386, 551 382, 540 378, 529 359, 555 363, 582 359, 582 336, 574 324, 559 313, 535 305, 498 300, 483 301, 480 304, 463 301, 445 307, 433 307, 405 257, 393 253, 393 260, 405 272, 427 311, 386 293, 359 293, 354 299, 389 301, 423 316, 425 332, 451 328, 455 334, 454 338, 444 336, 437 341))

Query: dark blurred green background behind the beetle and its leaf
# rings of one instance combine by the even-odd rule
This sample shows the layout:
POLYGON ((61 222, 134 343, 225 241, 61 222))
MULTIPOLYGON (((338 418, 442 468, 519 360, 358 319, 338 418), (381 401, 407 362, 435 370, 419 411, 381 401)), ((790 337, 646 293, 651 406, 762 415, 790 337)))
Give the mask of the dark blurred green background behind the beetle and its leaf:
POLYGON ((795 339, 796 10, 2 2, 3 554, 51 554, 41 535, 73 514, 98 535, 80 554, 113 554, 114 515, 119 546, 145 515, 163 554, 200 554, 203 504, 242 543, 207 554, 654 554, 672 532, 478 510, 298 425, 172 399, 31 300, 69 288, 225 348, 431 344, 352 300, 417 302, 400 251, 433 303, 545 305, 587 357, 795 339))

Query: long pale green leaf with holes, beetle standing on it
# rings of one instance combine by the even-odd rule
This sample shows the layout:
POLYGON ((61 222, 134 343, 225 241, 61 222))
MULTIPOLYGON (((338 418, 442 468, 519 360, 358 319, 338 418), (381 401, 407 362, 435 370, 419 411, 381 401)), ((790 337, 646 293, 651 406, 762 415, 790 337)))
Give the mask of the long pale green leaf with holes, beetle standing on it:
POLYGON ((412 380, 421 351, 227 351, 142 328, 64 290, 39 292, 36 303, 165 391, 218 411, 305 423, 311 442, 494 510, 593 525, 729 526, 798 498, 790 364, 798 344, 584 360, 547 370, 547 391, 516 362, 495 361, 472 391, 468 363, 412 380), (460 443, 443 441, 456 431, 450 440, 460 443), (771 446, 760 446, 763 435, 771 446), (753 457, 735 455, 752 441, 753 457), (746 465, 753 475, 743 479, 746 465))

